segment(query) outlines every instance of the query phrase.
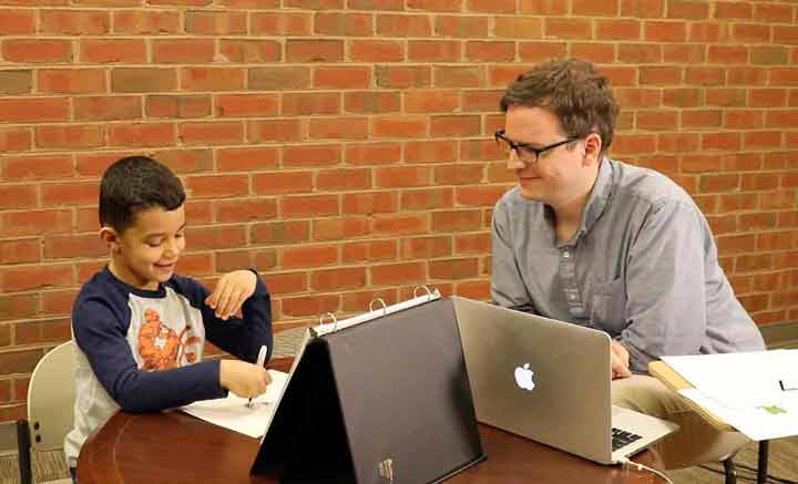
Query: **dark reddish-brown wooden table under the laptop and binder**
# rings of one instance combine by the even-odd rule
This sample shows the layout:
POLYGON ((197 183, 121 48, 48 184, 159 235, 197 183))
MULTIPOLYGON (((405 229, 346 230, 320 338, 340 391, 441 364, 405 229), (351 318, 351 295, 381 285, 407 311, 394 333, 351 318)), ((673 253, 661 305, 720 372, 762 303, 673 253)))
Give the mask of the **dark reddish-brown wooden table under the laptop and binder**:
MULTIPOLYGON (((285 371, 290 360, 270 368, 285 371)), ((528 439, 480 425, 488 459, 448 483, 657 483, 648 472, 604 466, 528 439)), ((249 475, 258 440, 182 412, 119 412, 89 437, 78 461, 80 484, 274 483, 249 475)), ((635 457, 662 468, 656 453, 635 457)))

